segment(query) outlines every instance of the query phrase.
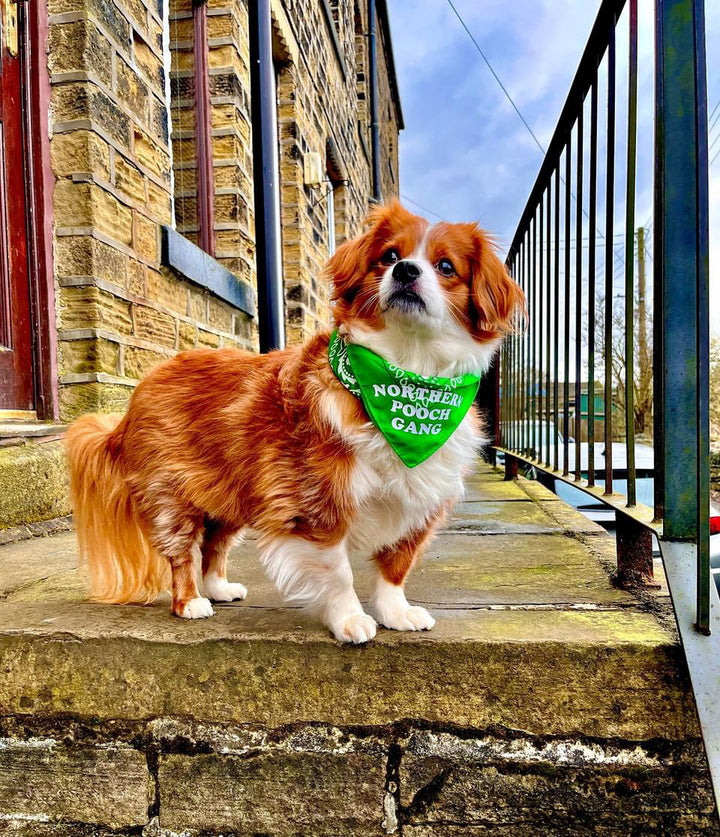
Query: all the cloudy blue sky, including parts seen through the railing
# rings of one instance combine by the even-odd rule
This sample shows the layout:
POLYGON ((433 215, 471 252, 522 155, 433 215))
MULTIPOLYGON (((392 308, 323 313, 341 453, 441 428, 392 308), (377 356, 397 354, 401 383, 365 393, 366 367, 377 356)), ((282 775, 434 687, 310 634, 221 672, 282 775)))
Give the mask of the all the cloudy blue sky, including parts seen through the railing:
MULTIPOLYGON (((540 144, 547 147, 599 0, 453 3, 540 144)), ((390 0, 388 5, 405 119, 400 135, 401 196, 408 208, 431 221, 436 216, 478 221, 495 234, 505 252, 543 154, 448 0, 390 0)), ((653 6, 653 0, 639 0, 637 226, 652 223, 653 6)), ((624 146, 627 120, 623 112, 627 99, 622 93, 627 85, 626 18, 627 9, 617 34, 618 148, 624 146)), ((720 46, 720 3, 715 0, 706 3, 706 31, 712 111, 720 101, 720 49, 713 48, 713 44, 720 46)), ((603 71, 604 65, 601 91, 603 71)), ((602 93, 599 105, 602 120, 602 93)), ((720 107, 715 115, 720 116, 720 107)), ((587 144, 586 139, 586 148, 587 144)), ((712 160, 720 151, 720 119, 711 127, 710 145, 712 160)), ((620 274, 624 178, 620 161, 615 227, 620 274)), ((710 169, 710 205, 710 316, 711 328, 720 333, 720 155, 710 169)), ((651 236, 649 241, 651 246, 651 236)))

